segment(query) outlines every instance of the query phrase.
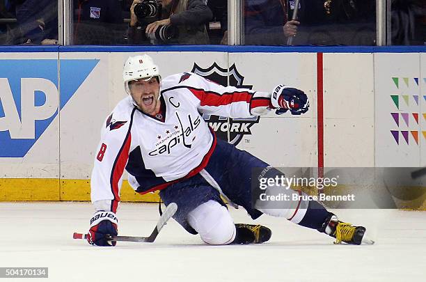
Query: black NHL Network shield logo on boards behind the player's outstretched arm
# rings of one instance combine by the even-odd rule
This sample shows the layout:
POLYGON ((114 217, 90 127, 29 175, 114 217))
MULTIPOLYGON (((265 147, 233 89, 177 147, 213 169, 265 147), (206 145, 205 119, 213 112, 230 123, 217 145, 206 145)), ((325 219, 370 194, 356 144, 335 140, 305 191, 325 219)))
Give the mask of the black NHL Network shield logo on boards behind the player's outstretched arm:
MULTIPOLYGON (((195 74, 216 84, 221 84, 222 86, 228 86, 229 78, 230 86, 248 89, 253 88, 252 85, 243 84, 244 77, 239 74, 235 64, 233 64, 228 70, 226 68, 221 68, 216 64, 216 62, 208 68, 200 68, 200 66, 194 63, 194 67, 191 72, 194 72, 195 74)), ((181 77, 181 81, 183 77, 184 76, 181 77)), ((244 135, 251 134, 251 127, 255 123, 259 123, 260 120, 259 116, 255 116, 253 118, 226 118, 223 116, 211 116, 207 114, 203 114, 203 118, 205 122, 212 127, 214 132, 216 132, 216 136, 218 136, 219 139, 228 141, 235 146, 237 146, 237 144, 242 140, 244 135)))

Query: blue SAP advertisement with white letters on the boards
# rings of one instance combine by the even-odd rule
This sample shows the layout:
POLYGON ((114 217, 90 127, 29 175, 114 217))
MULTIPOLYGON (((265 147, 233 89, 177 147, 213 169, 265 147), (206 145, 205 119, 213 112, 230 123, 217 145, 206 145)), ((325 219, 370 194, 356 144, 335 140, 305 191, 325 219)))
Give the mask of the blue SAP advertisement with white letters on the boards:
POLYGON ((0 157, 24 157, 97 62, 1 60, 0 157))

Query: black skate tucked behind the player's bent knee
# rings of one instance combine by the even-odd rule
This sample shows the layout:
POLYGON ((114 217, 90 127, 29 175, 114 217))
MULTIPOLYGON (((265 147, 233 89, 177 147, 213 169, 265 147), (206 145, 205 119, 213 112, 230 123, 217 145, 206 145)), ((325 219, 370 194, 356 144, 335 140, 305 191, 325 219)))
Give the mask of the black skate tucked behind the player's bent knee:
POLYGON ((237 235, 232 244, 261 244, 271 239, 271 229, 260 224, 235 224, 237 235))

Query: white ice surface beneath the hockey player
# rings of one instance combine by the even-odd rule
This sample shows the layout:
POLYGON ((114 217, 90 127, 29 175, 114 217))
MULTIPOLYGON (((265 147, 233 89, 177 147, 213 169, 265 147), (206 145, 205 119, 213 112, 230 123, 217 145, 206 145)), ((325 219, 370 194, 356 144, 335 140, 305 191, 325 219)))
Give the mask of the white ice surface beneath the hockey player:
MULTIPOLYGON (((253 222, 244 209, 230 212, 253 222)), ((426 212, 333 212, 367 227, 376 244, 334 245, 263 215, 255 222, 273 232, 265 244, 207 246, 172 219, 154 243, 96 247, 72 239, 88 230, 90 203, 0 203, 0 266, 49 267, 47 281, 426 281, 426 212)), ((148 236, 158 218, 155 204, 121 203, 119 234, 148 236)))

